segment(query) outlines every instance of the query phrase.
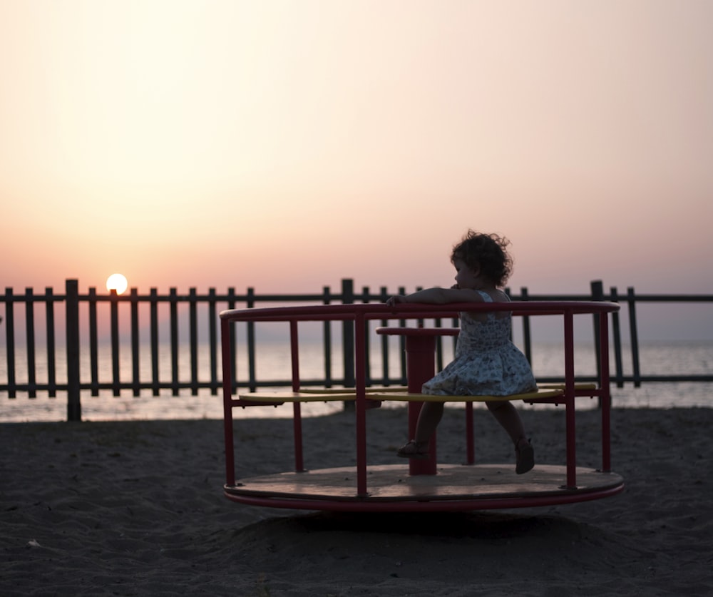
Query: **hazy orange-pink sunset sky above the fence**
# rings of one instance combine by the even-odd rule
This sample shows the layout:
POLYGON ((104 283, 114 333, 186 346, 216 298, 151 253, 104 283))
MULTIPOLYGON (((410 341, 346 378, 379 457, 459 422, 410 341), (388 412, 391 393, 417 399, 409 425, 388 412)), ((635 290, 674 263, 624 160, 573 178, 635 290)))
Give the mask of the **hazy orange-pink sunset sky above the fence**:
POLYGON ((0 284, 711 293, 713 2, 0 0, 0 284))

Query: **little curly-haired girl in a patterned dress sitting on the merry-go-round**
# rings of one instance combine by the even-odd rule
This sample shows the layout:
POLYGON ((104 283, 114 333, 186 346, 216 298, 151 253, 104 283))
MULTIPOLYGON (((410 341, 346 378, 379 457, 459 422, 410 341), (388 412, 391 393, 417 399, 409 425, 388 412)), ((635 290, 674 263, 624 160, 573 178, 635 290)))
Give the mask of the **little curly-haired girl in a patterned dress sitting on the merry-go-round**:
MULTIPOLYGON (((509 302, 508 295, 501 290, 512 271, 512 259, 506 250, 508 244, 508 240, 498 235, 468 230, 451 253, 451 263, 456 267, 453 287, 396 295, 389 298, 386 305, 399 302, 509 302)), ((456 357, 424 384, 424 394, 506 396, 535 389, 530 364, 510 340, 510 312, 461 312, 460 317, 456 357)), ((443 405, 443 402, 424 402, 416 424, 416 437, 399 448, 399 456, 429 457, 429 440, 441 421, 443 405)), ((535 454, 525 437, 520 415, 509 401, 489 401, 486 405, 515 444, 515 471, 526 473, 535 465, 535 454)))

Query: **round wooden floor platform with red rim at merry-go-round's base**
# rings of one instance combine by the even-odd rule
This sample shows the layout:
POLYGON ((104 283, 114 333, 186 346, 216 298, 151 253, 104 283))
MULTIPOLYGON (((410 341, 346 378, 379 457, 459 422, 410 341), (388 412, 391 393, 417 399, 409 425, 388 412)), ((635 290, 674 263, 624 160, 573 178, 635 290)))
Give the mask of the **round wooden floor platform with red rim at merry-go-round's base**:
POLYGON ((618 494, 618 474, 577 469, 566 487, 565 466, 540 465, 524 475, 512 464, 440 464, 435 475, 409 475, 407 464, 369 466, 368 493, 356 494, 356 467, 286 472, 224 486, 232 501, 255 506, 334 511, 454 511, 570 504, 618 494))

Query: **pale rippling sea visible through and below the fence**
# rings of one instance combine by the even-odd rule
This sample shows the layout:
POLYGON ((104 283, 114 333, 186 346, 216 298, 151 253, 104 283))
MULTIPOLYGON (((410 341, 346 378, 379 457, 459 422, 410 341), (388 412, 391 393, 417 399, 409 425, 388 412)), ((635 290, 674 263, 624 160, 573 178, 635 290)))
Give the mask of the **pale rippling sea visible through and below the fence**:
MULTIPOLYGON (((299 367, 302 379, 322 379, 324 377, 324 358, 319 342, 300 342, 299 367)), ((200 345, 198 351, 198 375, 202 381, 210 380, 210 347, 200 345)), ((332 376, 337 379, 342 375, 342 356, 339 349, 332 354, 332 376)), ((640 373, 642 375, 710 375, 713 374, 713 341, 667 342, 650 341, 640 343, 640 373)), ((161 345, 159 349, 159 376, 163 381, 171 379, 170 346, 161 345)), ((140 347, 140 377, 150 379, 150 348, 140 347)), ((220 354, 218 363, 220 367, 220 354)), ((36 380, 46 381, 46 359, 36 355, 36 380)), ((22 349, 16 351, 16 381, 27 379, 26 355, 22 349), (24 367, 24 368, 23 368, 24 367)), ((443 359, 447 363, 452 358, 448 348, 444 349, 443 359)), ((57 381, 66 380, 63 370, 63 354, 58 349, 57 381)), ((389 348, 389 374, 398 375, 399 347, 389 348)), ((580 375, 594 374, 596 370, 595 354, 591 343, 575 347, 575 367, 580 375)), ((289 347, 283 343, 266 342, 256 351, 257 379, 290 378, 289 347)), ((370 364, 374 377, 381 371, 381 356, 378 347, 370 355, 370 364)), ((553 343, 535 343, 532 349, 532 364, 535 377, 561 375, 564 370, 562 346, 553 343)), ((622 347, 622 367, 625 374, 632 372, 630 347, 622 347)), ((612 375, 615 372, 614 357, 610 364, 612 375)), ((190 347, 180 346, 179 379, 190 381, 190 347)), ((238 362, 238 378, 246 379, 247 366, 238 362)), ((81 377, 88 379, 89 364, 81 362, 81 377)), ((111 382, 111 348, 100 345, 99 381, 111 382)), ((220 369, 218 371, 220 378, 220 369)), ((126 346, 120 347, 120 378, 131 379, 131 354, 126 346)), ((7 383, 7 359, 5 347, 0 347, 0 384, 7 383)), ((627 382, 624 387, 612 383, 612 404, 615 408, 690 408, 713 407, 712 382, 642 382, 640 387, 627 382)), ((67 416, 66 392, 57 392, 56 397, 48 397, 48 392, 37 392, 37 397, 30 398, 27 392, 17 392, 15 398, 9 398, 8 392, 0 391, 0 422, 59 422, 67 416)), ((222 396, 211 394, 209 389, 200 389, 197 396, 190 390, 182 390, 173 396, 170 390, 161 390, 159 396, 153 396, 150 390, 143 390, 134 397, 130 390, 122 390, 120 396, 113 396, 111 390, 102 390, 98 397, 92 397, 87 391, 81 394, 82 419, 85 421, 130 421, 142 419, 222 419, 222 396)), ((477 407, 482 405, 476 404, 477 407)), ((403 404, 384 405, 386 408, 404 408, 403 404)), ((458 407, 453 405, 453 407, 458 407)), ((596 399, 581 399, 578 407, 596 408, 596 399)), ((521 408, 533 408, 523 405, 521 408)), ((543 408, 539 406, 538 408, 543 408)), ((555 407, 552 407, 555 408, 555 407)), ((302 404, 302 416, 319 417, 344 409, 342 402, 317 402, 302 404)), ((292 417, 292 405, 280 407, 249 407, 236 414, 238 417, 288 418, 292 417)))

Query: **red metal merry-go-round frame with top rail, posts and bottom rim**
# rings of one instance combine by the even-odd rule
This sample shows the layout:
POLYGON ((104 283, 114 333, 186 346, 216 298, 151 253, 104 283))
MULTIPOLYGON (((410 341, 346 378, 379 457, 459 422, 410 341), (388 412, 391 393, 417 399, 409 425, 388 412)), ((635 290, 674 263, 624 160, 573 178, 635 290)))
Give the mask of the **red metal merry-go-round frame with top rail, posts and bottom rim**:
MULTIPOLYGON (((292 354, 292 389, 299 391, 299 342, 297 340, 297 324, 301 321, 354 321, 355 331, 355 382, 356 382, 356 494, 354 501, 343 499, 285 499, 276 496, 235 496, 226 491, 229 499, 240 501, 244 504, 255 504, 276 508, 297 509, 329 509, 342 511, 430 511, 430 510, 462 510, 462 509, 491 509, 514 508, 529 506, 544 506, 552 504, 565 504, 590 499, 600 499, 622 490, 623 484, 615 487, 606 487, 597 491, 585 493, 566 491, 576 489, 576 430, 575 430, 575 398, 578 396, 597 396, 600 398, 602 413, 602 472, 611 470, 610 451, 610 407, 611 397, 609 391, 609 333, 607 314, 619 309, 613 302, 593 301, 513 301, 508 303, 468 303, 453 305, 397 305, 387 307, 383 304, 367 305, 314 305, 307 307, 270 307, 265 309, 228 310, 220 313, 221 342, 222 342, 222 379, 223 379, 223 413, 225 434, 225 483, 226 487, 235 486, 235 445, 233 437, 232 409, 235 407, 253 406, 256 403, 250 400, 234 398, 232 395, 234 355, 230 343, 230 325, 233 322, 289 322, 290 345, 292 354), (367 488, 367 462, 366 462, 366 410, 369 408, 366 400, 366 322, 370 320, 409 320, 424 318, 455 317, 460 311, 510 311, 513 315, 561 315, 564 321, 565 344, 565 389, 562 397, 555 399, 533 400, 532 403, 553 402, 565 406, 565 442, 566 442, 566 485, 562 488, 563 494, 512 498, 498 497, 497 499, 458 499, 438 501, 369 501, 367 488), (574 316, 583 314, 599 315, 599 357, 600 379, 596 389, 578 390, 575 387, 575 359, 574 359, 574 316)), ((412 330, 414 328, 411 328, 412 330)), ((429 328, 430 330, 430 328, 429 328)), ((443 333, 444 330, 441 330, 443 333)), ((430 332, 429 332, 430 333, 430 332)), ((433 332, 434 334, 438 332, 433 332)), ((446 331, 447 333, 447 331, 446 331)), ((422 335, 422 337, 429 337, 422 335)), ((423 347, 419 348, 423 349, 423 347)), ((432 354, 432 349, 431 349, 432 354)), ((411 373, 411 372, 409 372, 411 373)), ((414 377, 416 375, 414 374, 414 377)), ((411 374, 409 374, 411 379, 411 374)), ((420 387, 419 387, 420 390, 420 387)), ((409 391, 414 389, 409 387, 409 391)), ((260 404, 265 404, 260 403, 260 404)), ((467 429, 466 434, 472 437, 472 404, 466 404, 467 429)), ((415 424, 415 423, 414 423, 415 424)), ((294 456, 295 471, 304 471, 302 461, 302 416, 299 402, 294 403, 294 456)), ((472 442, 468 442, 468 462, 474 460, 472 442)), ((435 461, 434 461, 435 466, 435 461)), ((430 466, 430 465, 429 465, 430 466)), ((414 468, 411 474, 433 474, 435 469, 419 470, 414 468)))

